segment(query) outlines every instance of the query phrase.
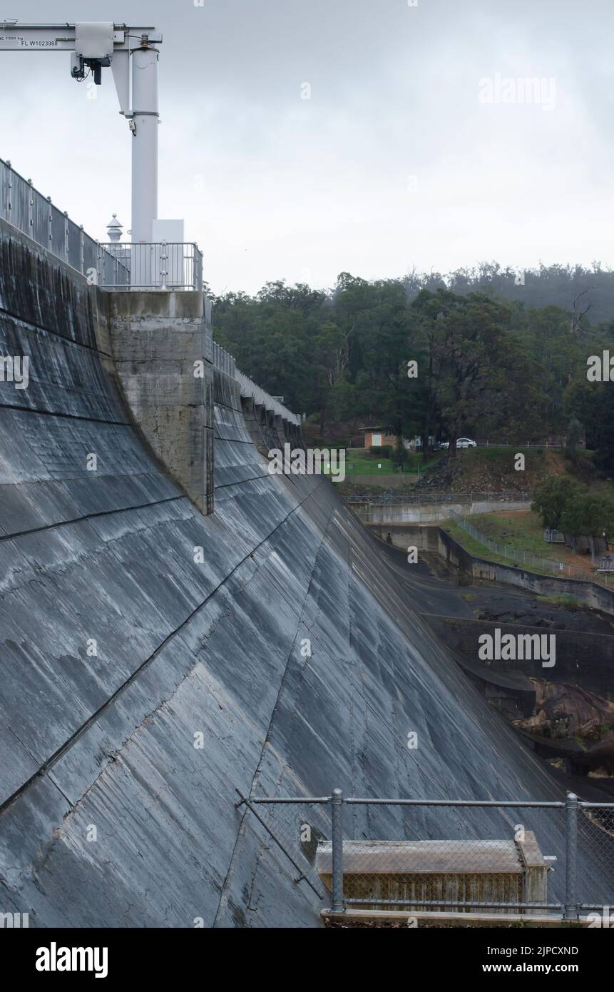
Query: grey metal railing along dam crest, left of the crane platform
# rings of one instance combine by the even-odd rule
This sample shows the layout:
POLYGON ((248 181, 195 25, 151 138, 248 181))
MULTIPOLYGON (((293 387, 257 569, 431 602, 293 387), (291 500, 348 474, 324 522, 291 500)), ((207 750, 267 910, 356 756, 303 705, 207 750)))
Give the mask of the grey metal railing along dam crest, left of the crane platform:
MULTIPOLYGON (((62 212, 52 203, 51 196, 44 196, 16 173, 11 163, 0 159, 0 217, 13 227, 27 234, 43 248, 46 248, 62 262, 76 269, 89 282, 97 282, 97 273, 107 254, 88 234, 82 225, 75 224, 65 210, 62 212)), ((123 285, 129 283, 128 274, 121 261, 117 263, 117 279, 123 285)))

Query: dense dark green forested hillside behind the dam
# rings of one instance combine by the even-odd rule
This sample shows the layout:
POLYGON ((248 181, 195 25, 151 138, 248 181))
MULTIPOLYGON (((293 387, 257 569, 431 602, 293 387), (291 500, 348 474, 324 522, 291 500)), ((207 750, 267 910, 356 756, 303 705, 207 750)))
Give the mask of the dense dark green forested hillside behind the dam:
POLYGON ((562 436, 614 466, 609 383, 586 378, 590 355, 614 353, 614 275, 553 266, 524 280, 491 265, 445 280, 342 273, 329 293, 268 283, 214 301, 215 337, 328 440, 338 424, 501 442, 562 436))

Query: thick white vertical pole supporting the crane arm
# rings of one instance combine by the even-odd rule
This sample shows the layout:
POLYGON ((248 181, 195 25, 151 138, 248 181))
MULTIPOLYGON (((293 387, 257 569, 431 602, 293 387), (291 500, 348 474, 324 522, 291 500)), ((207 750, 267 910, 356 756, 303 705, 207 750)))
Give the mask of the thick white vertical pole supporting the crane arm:
POLYGON ((158 217, 158 50, 132 53, 132 241, 152 240, 158 217))

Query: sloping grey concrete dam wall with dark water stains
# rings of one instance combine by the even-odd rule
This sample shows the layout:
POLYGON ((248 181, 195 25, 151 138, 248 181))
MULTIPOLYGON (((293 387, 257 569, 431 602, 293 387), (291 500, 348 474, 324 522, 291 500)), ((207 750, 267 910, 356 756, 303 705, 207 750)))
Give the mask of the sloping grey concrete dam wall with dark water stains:
MULTIPOLYGON (((109 297, 0 229, 0 352, 30 359, 27 389, 0 383, 0 909, 31 927, 316 927, 322 903, 235 790, 560 800, 334 485, 268 473, 258 438, 292 430, 206 334, 201 513, 156 455, 164 418, 137 422, 138 355, 117 357, 109 297)), ((321 808, 283 825, 307 873, 306 819, 329 836, 321 808)), ((516 822, 352 806, 344 829, 509 838, 516 822)), ((562 864, 560 810, 524 822, 562 864)), ((581 845, 580 898, 610 888, 597 847, 581 845)))

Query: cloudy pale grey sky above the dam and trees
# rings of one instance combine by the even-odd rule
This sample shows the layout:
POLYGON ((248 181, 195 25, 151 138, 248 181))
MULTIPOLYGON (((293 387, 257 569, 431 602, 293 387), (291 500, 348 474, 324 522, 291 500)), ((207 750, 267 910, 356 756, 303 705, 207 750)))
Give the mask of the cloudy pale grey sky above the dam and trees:
MULTIPOLYGON (((216 293, 614 266, 611 0, 12 2, 163 32, 159 215, 185 218, 216 293)), ((0 157, 94 237, 113 211, 129 227, 110 69, 91 100, 66 53, 0 53, 0 92, 0 157)))

